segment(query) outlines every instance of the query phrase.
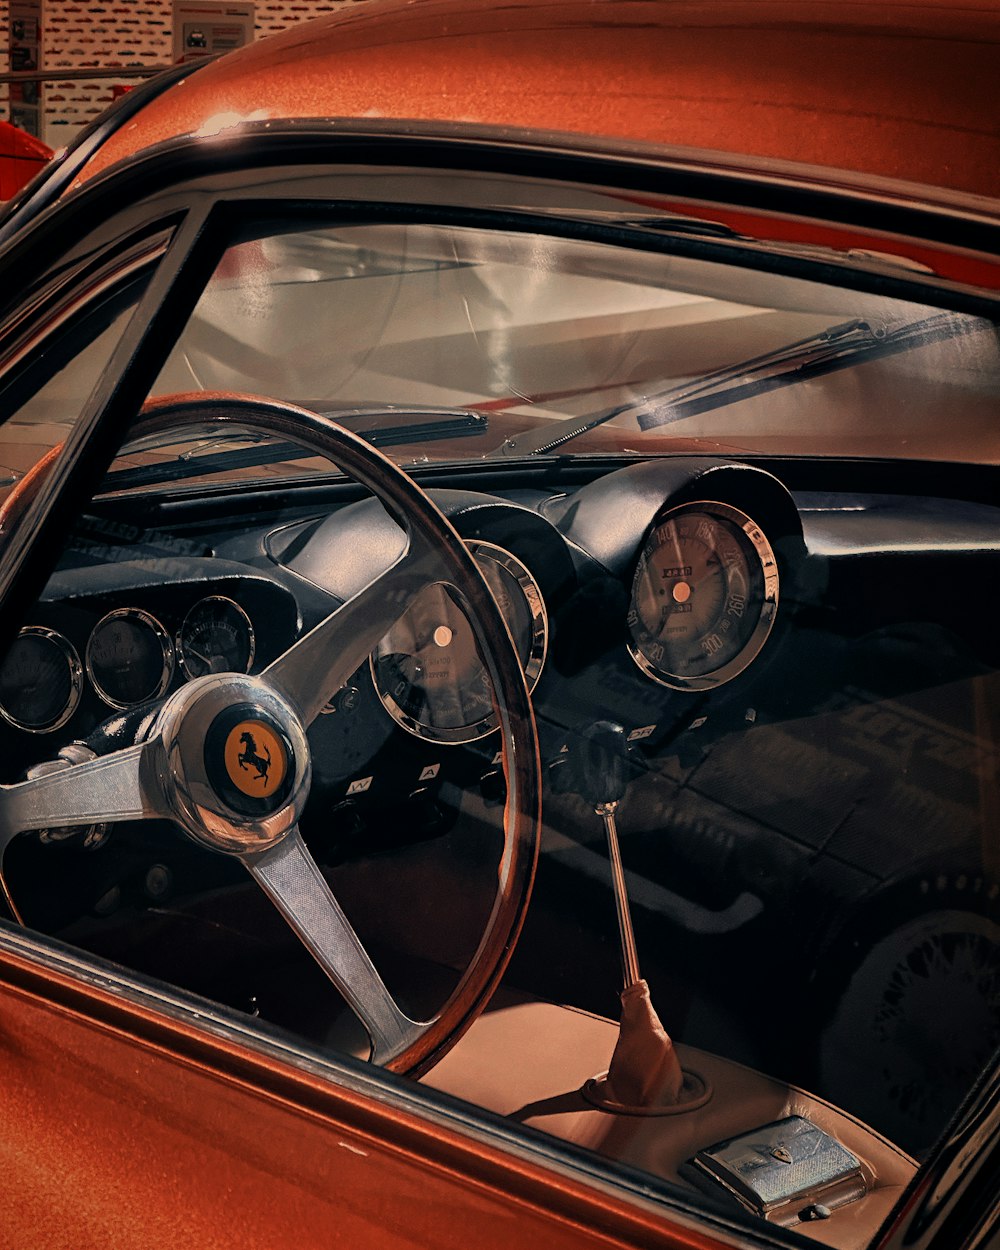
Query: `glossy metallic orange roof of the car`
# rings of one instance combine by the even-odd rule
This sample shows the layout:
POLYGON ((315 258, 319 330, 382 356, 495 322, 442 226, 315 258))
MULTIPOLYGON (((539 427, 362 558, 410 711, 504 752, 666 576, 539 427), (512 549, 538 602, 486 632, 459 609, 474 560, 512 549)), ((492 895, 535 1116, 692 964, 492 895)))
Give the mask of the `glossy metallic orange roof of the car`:
POLYGON ((246 119, 351 118, 665 145, 989 202, 998 65, 1000 0, 371 0, 176 81, 76 181, 246 119))

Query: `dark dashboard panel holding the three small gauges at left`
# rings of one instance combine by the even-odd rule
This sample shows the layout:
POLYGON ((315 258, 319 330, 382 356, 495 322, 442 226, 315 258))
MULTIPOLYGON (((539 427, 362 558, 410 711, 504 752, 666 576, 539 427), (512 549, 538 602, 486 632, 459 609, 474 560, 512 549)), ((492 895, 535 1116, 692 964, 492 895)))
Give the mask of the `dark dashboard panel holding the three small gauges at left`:
POLYGON ((54 576, 8 652, 0 716, 19 754, 86 736, 206 672, 259 670, 299 631, 295 596, 244 566, 111 550, 76 540, 70 560, 85 562, 54 576))

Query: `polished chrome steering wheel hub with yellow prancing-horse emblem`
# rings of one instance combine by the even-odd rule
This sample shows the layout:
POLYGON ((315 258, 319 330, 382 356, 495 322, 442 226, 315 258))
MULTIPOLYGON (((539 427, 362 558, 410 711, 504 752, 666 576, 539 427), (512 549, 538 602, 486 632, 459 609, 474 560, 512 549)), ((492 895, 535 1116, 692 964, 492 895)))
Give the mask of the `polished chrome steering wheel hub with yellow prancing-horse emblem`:
POLYGON ((190 838, 248 855, 275 846, 301 815, 311 764, 295 709, 260 678, 211 674, 165 704, 161 785, 190 838))

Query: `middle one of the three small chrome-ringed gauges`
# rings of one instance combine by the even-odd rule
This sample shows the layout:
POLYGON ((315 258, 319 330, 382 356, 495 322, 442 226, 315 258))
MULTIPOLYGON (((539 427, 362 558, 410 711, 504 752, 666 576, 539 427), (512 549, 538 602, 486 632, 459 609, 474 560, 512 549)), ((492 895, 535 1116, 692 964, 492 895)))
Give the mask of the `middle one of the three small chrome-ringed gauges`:
POLYGON ((150 612, 119 608, 102 616, 86 644, 86 671, 111 708, 159 699, 174 675, 174 644, 150 612))

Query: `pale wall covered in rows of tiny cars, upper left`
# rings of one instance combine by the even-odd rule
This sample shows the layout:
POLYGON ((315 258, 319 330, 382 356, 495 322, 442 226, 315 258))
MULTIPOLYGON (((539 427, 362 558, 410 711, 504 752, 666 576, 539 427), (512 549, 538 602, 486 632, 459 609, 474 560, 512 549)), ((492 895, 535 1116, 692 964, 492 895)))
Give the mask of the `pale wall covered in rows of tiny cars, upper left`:
MULTIPOLYGON (((255 38, 365 0, 256 0, 255 38)), ((9 69, 9 6, 0 0, 0 69, 9 69)), ((172 55, 171 0, 45 0, 42 65, 65 71, 45 85, 42 139, 60 148, 101 112, 114 98, 115 82, 139 81, 129 68, 169 65, 172 55), (81 69, 121 69, 120 80, 74 79, 81 69)), ((0 118, 9 116, 8 89, 0 84, 0 118)))

